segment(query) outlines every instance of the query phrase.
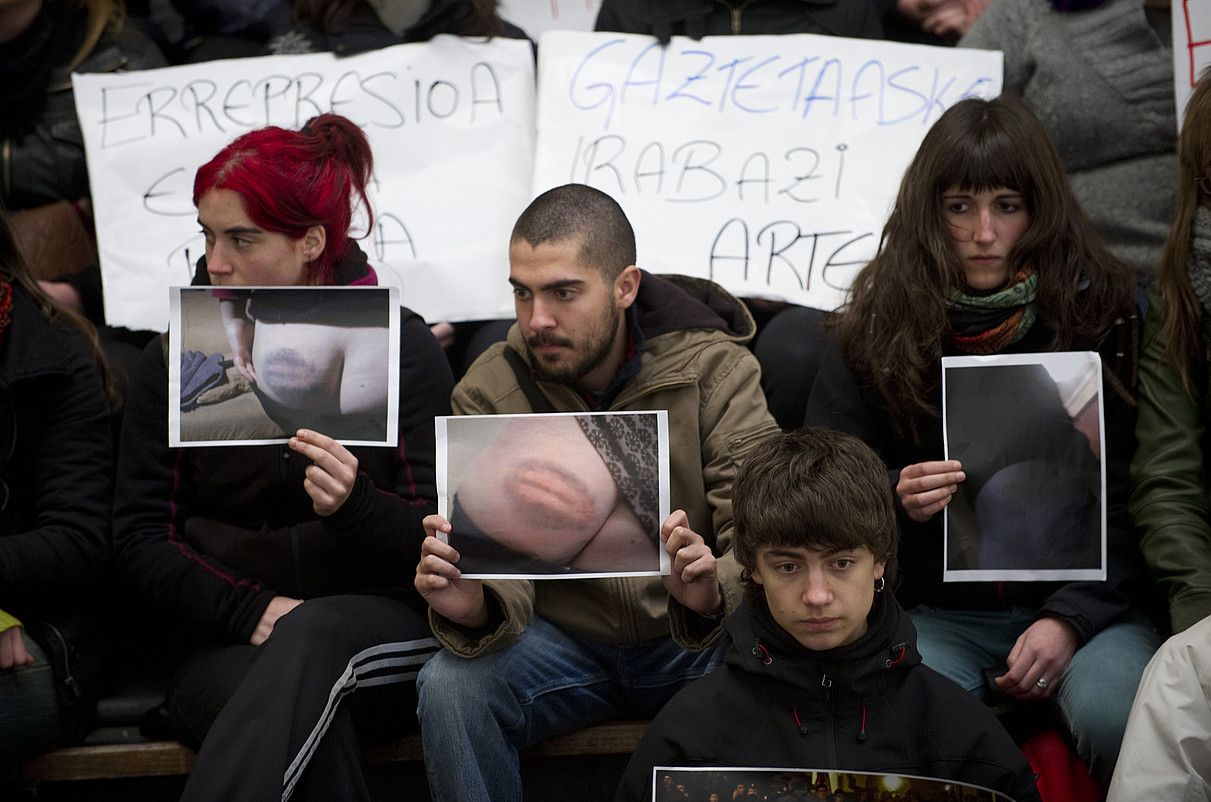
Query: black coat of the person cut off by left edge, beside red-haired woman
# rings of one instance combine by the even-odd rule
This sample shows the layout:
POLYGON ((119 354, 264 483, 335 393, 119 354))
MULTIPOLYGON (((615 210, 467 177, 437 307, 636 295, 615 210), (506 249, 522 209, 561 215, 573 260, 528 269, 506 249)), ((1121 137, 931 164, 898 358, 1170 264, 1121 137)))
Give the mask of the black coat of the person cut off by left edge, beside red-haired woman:
POLYGON ((11 383, 16 424, 0 537, 0 608, 21 614, 96 589, 109 556, 109 406, 84 336, 57 326, 65 365, 11 383), (16 519, 16 520, 13 520, 16 519))

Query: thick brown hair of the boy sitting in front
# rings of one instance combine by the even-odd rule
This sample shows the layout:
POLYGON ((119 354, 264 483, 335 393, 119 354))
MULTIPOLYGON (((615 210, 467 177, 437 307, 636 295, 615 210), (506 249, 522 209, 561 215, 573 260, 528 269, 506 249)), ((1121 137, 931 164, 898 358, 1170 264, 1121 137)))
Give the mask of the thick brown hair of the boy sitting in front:
POLYGON ((731 488, 735 555, 745 588, 762 546, 831 551, 866 546, 895 577, 899 542, 888 470, 871 447, 839 431, 807 428, 748 452, 731 488))

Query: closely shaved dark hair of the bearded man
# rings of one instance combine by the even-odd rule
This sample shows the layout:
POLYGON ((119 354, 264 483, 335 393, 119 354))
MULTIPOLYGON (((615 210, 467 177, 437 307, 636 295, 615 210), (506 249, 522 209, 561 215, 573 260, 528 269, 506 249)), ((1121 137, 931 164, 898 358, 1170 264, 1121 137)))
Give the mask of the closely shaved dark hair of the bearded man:
POLYGON ((579 244, 581 264, 601 270, 613 282, 635 264, 635 229, 613 197, 585 184, 564 184, 535 197, 509 237, 532 247, 546 242, 579 244))

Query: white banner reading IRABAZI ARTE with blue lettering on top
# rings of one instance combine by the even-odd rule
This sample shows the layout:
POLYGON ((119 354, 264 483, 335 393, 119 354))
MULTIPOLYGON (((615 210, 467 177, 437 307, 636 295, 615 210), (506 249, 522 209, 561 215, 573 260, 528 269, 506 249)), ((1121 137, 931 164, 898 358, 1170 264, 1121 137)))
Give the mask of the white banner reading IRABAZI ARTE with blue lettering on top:
POLYGON ((837 36, 549 31, 534 193, 613 195, 639 265, 833 309, 930 125, 1000 92, 999 52, 837 36))

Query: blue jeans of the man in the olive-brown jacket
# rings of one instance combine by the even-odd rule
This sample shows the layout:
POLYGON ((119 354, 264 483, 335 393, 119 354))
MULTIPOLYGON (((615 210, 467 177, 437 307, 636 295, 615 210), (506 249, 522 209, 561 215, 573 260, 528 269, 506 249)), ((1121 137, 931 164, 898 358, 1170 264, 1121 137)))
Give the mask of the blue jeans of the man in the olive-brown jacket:
POLYGON ((417 680, 432 797, 521 800, 520 750, 609 718, 649 718, 714 669, 724 648, 685 652, 672 638, 609 646, 535 618, 499 652, 472 659, 441 652, 417 680))

